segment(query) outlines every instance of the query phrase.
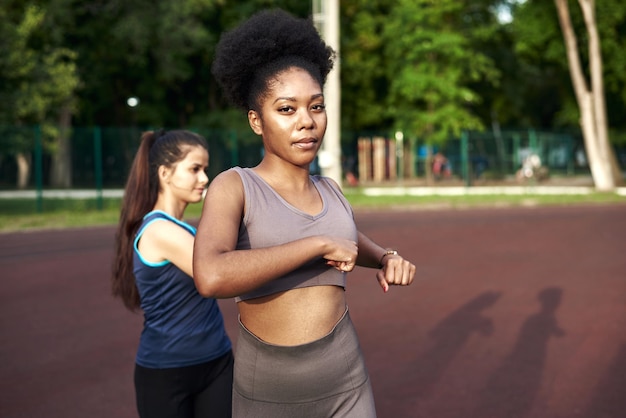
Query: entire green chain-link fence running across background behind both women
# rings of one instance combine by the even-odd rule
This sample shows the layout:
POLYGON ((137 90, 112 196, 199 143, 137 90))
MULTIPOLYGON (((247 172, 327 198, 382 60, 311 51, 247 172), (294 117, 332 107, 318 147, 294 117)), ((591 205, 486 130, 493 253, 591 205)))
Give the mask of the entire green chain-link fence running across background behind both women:
MULTIPOLYGON (((247 128, 247 127, 246 127, 247 128)), ((209 142, 209 177, 235 165, 254 166, 262 157, 262 143, 249 129, 192 129, 209 142)), ((128 127, 73 127, 67 133, 67 147, 61 162, 69 182, 62 188, 120 189, 124 187, 142 130, 128 127)), ((35 127, 0 127, 0 190, 41 190, 59 188, 51 173, 61 153, 59 130, 35 127), (56 139, 55 139, 56 138, 56 139)), ((479 178, 506 178, 515 175, 523 159, 534 153, 551 174, 588 174, 582 138, 554 132, 503 131, 465 132, 445 145, 428 146, 415 138, 391 135, 342 133, 344 172, 362 180, 390 181, 422 177, 432 155, 443 153, 452 176, 469 185, 479 178), (378 141, 375 139, 378 138, 378 141), (382 141, 382 142, 381 142, 382 141), (363 144, 370 143, 369 152, 363 144), (374 143, 383 148, 377 149, 374 143), (378 167, 378 168, 376 168, 378 167), (381 168, 382 167, 382 168, 381 168), (365 178, 375 170, 382 175, 365 178)), ((626 153, 617 153, 626 167, 626 153)))

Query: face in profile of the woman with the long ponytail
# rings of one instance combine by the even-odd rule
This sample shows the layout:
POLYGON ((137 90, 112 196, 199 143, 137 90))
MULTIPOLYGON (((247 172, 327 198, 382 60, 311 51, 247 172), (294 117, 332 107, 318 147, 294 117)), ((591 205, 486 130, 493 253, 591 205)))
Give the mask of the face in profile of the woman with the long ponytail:
POLYGON ((209 153, 201 146, 193 146, 181 161, 167 169, 163 166, 162 184, 171 194, 184 202, 197 203, 209 183, 206 169, 209 166, 209 153))

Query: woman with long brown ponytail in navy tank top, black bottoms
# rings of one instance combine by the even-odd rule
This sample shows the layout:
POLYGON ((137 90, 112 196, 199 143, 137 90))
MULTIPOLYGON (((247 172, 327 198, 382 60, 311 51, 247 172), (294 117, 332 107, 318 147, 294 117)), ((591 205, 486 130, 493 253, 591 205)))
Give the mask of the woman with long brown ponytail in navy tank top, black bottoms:
POLYGON ((193 281, 196 229, 183 220, 209 182, 206 140, 145 132, 115 237, 113 295, 143 311, 135 364, 141 418, 230 417, 233 355, 215 299, 193 281))

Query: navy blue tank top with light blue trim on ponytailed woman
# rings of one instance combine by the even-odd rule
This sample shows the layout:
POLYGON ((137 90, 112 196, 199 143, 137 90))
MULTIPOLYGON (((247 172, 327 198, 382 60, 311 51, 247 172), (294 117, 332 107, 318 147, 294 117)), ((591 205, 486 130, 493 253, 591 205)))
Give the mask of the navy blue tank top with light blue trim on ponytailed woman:
POLYGON ((170 261, 143 259, 138 243, 152 222, 174 222, 193 236, 196 229, 165 212, 148 213, 134 241, 135 282, 144 313, 136 362, 149 368, 185 367, 226 354, 231 342, 215 299, 202 297, 193 278, 170 261))

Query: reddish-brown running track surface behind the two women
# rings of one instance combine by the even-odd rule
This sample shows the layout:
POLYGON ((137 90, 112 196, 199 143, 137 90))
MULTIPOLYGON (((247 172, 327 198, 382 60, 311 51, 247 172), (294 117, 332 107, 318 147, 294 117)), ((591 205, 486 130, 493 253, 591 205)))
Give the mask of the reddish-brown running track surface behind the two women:
MULTIPOLYGON (((349 276, 378 415, 626 416, 626 207, 357 213, 418 266, 349 276)), ((111 228, 0 235, 0 416, 135 417, 111 228)), ((234 302, 220 302, 235 340, 234 302)), ((236 341, 235 341, 236 342, 236 341)))

